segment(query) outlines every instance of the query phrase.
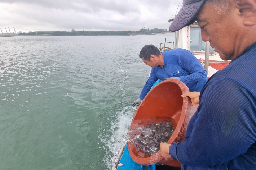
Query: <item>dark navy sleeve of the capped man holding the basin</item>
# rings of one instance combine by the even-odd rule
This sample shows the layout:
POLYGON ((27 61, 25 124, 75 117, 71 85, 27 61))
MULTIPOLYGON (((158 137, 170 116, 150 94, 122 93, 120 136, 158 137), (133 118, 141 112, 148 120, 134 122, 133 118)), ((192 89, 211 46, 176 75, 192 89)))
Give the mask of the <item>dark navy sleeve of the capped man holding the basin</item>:
MULTIPOLYGON (((247 152, 256 141, 255 127, 256 97, 233 80, 214 78, 202 89, 189 136, 169 153, 184 165, 218 166, 247 152)), ((255 160, 255 153, 244 160, 255 160)))

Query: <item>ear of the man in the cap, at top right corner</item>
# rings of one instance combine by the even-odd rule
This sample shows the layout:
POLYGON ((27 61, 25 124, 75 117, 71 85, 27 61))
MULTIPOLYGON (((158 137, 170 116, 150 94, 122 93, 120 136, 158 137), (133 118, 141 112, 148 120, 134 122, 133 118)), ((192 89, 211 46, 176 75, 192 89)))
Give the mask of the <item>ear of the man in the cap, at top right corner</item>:
POLYGON ((239 8, 240 16, 243 17, 245 26, 253 26, 256 24, 256 1, 255 0, 236 0, 239 8))

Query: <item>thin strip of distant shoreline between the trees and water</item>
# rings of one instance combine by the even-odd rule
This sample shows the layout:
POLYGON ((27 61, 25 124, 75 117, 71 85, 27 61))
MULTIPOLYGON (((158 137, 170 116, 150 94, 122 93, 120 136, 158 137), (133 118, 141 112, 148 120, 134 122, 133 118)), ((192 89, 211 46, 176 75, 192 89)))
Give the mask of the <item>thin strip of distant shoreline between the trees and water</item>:
POLYGON ((42 35, 7 35, 7 36, 0 36, 1 37, 24 37, 24 36, 54 36, 54 37, 103 37, 103 36, 138 36, 138 35, 155 35, 155 34, 169 34, 174 32, 162 32, 162 33, 152 33, 152 34, 136 34, 136 35, 75 35, 75 36, 57 36, 52 34, 42 34, 42 35))

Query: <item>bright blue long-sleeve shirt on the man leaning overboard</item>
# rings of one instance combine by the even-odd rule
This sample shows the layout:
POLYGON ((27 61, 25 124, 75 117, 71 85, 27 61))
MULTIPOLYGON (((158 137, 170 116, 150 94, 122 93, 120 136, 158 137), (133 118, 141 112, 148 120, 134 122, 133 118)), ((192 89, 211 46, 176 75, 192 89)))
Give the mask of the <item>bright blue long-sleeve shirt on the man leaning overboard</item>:
POLYGON ((185 83, 190 91, 200 92, 207 82, 207 72, 200 64, 198 59, 188 50, 173 49, 162 52, 164 58, 163 68, 156 66, 151 70, 149 79, 144 85, 140 99, 144 99, 150 88, 158 79, 179 77, 180 81, 185 83))

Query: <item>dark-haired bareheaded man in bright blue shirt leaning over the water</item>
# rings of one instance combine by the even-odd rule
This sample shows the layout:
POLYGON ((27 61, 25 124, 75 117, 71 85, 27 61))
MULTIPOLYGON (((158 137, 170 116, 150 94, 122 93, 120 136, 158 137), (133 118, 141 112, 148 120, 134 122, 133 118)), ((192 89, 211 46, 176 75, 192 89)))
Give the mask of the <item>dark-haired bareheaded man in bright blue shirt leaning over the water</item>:
POLYGON ((207 72, 198 59, 185 49, 160 52, 154 45, 146 45, 141 49, 139 56, 146 65, 153 69, 139 98, 133 102, 133 107, 136 104, 140 105, 158 79, 162 81, 168 78, 178 79, 185 83, 190 91, 197 92, 201 91, 208 80, 207 72))

